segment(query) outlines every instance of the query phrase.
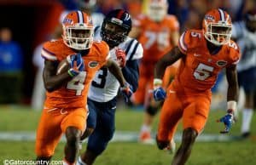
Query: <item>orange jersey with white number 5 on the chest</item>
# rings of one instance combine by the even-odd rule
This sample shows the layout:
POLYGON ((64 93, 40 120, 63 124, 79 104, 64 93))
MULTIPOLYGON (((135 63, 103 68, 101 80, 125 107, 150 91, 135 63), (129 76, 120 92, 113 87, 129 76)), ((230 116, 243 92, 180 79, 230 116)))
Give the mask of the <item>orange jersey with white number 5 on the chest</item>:
POLYGON ((189 30, 179 38, 178 47, 185 56, 181 59, 174 85, 193 90, 207 90, 216 82, 218 72, 236 65, 240 59, 239 48, 230 41, 216 54, 210 54, 202 31, 189 30))

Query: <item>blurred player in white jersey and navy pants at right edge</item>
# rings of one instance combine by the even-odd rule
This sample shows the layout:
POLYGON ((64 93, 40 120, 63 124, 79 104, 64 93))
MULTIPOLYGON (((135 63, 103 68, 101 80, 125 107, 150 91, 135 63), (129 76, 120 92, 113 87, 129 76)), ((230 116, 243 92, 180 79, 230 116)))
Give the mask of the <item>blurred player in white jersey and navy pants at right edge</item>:
POLYGON ((241 48, 241 60, 237 65, 238 82, 245 92, 245 105, 242 110, 241 136, 250 135, 253 117, 253 97, 256 92, 256 10, 248 11, 245 20, 236 22, 232 37, 241 48))

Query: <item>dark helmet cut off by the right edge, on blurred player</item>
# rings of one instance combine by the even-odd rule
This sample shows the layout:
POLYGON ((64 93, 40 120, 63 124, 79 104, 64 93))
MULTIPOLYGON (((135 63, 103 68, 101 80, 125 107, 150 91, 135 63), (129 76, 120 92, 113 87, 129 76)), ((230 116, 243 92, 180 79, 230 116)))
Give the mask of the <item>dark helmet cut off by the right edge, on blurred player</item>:
POLYGON ((248 31, 256 32, 256 9, 247 11, 245 22, 248 31))

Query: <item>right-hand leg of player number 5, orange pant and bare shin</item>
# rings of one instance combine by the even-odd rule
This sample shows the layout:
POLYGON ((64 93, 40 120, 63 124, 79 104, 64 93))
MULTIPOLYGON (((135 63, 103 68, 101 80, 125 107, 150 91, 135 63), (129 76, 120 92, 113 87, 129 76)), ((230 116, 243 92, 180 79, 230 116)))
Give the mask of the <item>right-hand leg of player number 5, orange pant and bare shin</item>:
POLYGON ((183 110, 183 138, 172 165, 183 165, 187 162, 197 135, 204 128, 210 110, 210 94, 191 96, 185 100, 183 110))

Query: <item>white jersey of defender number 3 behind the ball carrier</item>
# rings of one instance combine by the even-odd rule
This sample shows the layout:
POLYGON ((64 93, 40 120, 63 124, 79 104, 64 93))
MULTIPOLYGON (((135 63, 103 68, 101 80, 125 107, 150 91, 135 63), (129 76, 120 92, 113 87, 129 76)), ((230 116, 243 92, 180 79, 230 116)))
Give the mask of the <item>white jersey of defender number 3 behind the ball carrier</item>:
MULTIPOLYGON (((95 29, 95 40, 102 40, 101 27, 96 26, 95 29)), ((127 37, 125 42, 120 43, 118 48, 121 48, 126 53, 126 61, 128 60, 139 60, 143 57, 143 47, 141 43, 138 43, 136 39, 127 37)), ((116 60, 115 48, 110 50, 110 57, 112 60, 116 60)), ((96 72, 96 75, 90 84, 88 98, 97 102, 108 102, 118 94, 119 82, 108 71, 108 68, 102 68, 96 72)))

